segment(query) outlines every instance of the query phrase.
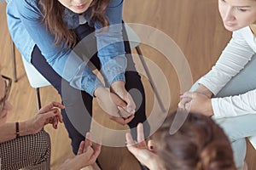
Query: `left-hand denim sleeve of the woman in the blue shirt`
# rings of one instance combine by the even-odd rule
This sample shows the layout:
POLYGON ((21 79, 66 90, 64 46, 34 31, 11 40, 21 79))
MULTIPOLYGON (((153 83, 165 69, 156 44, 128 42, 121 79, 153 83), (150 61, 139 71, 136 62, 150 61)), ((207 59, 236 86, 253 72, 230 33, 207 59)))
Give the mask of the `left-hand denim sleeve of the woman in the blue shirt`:
POLYGON ((93 95, 95 89, 102 86, 96 75, 84 60, 80 59, 70 48, 63 48, 64 42, 55 46, 55 37, 47 31, 42 23, 41 13, 35 0, 15 1, 19 7, 20 20, 26 31, 37 44, 49 65, 73 88, 84 90, 93 95))

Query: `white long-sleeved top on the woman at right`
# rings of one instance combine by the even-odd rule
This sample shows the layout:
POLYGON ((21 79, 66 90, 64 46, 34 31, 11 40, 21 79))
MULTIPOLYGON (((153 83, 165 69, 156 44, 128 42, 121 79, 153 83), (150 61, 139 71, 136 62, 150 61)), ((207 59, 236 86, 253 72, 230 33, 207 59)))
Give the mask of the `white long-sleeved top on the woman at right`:
MULTIPOLYGON (((256 39, 249 26, 234 31, 216 65, 201 78, 199 83, 211 90, 213 94, 218 94, 225 84, 244 68, 255 53, 256 39)), ((256 89, 246 94, 213 98, 212 108, 216 118, 256 114, 256 89)))

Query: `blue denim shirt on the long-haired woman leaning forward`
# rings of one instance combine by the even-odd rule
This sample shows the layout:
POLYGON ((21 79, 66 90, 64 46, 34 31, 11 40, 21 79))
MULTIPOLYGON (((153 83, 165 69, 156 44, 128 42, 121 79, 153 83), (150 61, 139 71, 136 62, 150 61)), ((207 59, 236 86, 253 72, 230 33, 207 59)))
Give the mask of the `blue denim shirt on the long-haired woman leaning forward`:
MULTIPOLYGON (((64 48, 65 42, 55 46, 55 36, 42 23, 43 14, 38 7, 38 0, 6 0, 7 20, 10 35, 19 49, 20 54, 31 62, 32 50, 35 45, 41 50, 49 65, 73 88, 84 90, 93 95, 95 89, 102 86, 90 67, 73 52, 64 48)), ((95 23, 98 57, 102 65, 102 76, 107 85, 115 81, 125 82, 125 48, 122 38, 123 0, 111 0, 106 9, 110 27, 101 31, 102 26, 95 23)), ((90 23, 89 14, 84 18, 90 23)), ((68 28, 79 26, 79 14, 66 8, 63 20, 68 28)))

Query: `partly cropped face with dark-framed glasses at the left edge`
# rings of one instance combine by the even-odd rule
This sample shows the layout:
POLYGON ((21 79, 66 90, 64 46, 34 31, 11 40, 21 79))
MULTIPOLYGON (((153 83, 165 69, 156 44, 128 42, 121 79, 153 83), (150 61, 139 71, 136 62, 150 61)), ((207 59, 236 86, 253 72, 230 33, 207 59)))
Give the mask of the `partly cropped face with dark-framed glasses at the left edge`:
MULTIPOLYGON (((3 77, 0 75, 0 102, 3 102, 3 98, 6 93, 6 83, 3 80, 3 77)), ((12 106, 10 105, 9 101, 5 101, 3 105, 3 110, 0 110, 0 126, 6 122, 8 111, 10 111, 12 106)))

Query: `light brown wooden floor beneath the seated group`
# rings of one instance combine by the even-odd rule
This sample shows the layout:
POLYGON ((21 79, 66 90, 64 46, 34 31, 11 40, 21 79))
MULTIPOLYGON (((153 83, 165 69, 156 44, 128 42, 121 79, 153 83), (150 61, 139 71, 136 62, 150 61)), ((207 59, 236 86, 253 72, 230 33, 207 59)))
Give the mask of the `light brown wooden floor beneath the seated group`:
MULTIPOLYGON (((167 37, 172 37, 186 57, 190 66, 189 71, 191 71, 191 76, 195 82, 211 69, 231 36, 230 32, 225 31, 224 26, 222 26, 217 3, 217 0, 129 0, 125 1, 124 20, 128 23, 153 27, 152 36, 148 36, 149 42, 156 41, 153 35, 159 32, 164 32, 167 37)), ((3 75, 12 77, 11 41, 6 26, 5 3, 0 4, 0 13, 0 20, 2 21, 0 25, 1 72, 3 75)), ((164 39, 158 44, 168 46, 164 39)), ((166 95, 165 88, 160 88, 159 91, 164 99, 166 96, 171 99, 167 105, 170 105, 170 110, 175 110, 179 100, 178 94, 183 86, 180 86, 178 78, 180 72, 177 71, 177 68, 183 68, 185 64, 172 65, 158 48, 150 47, 148 44, 141 45, 141 48, 144 56, 160 67, 168 81, 170 93, 166 95)), ((18 51, 16 51, 16 59, 18 82, 13 84, 9 98, 9 101, 14 105, 13 111, 8 116, 9 122, 24 121, 37 111, 35 91, 29 86, 18 51)), ((151 71, 151 73, 154 74, 155 71, 151 71)), ((157 85, 161 86, 161 81, 156 82, 158 82, 157 85)), ((149 116, 155 100, 152 98, 153 93, 147 78, 143 77, 143 83, 147 97, 147 115, 149 116)), ((60 97, 52 87, 42 88, 41 94, 43 105, 52 100, 60 101, 60 97)), ((94 104, 96 122, 101 122, 107 127, 124 128, 108 121, 108 116, 102 113, 96 102, 94 104)), ((53 130, 51 127, 45 127, 45 129, 49 132, 52 142, 51 167, 56 169, 61 162, 73 156, 70 139, 67 137, 64 125, 61 125, 58 130, 53 130)), ((256 169, 255 163, 253 163, 256 159, 256 152, 251 144, 248 143, 247 145, 247 163, 249 169, 253 170, 256 169)), ((103 147, 99 160, 103 169, 106 170, 139 169, 137 161, 125 148, 103 147)))

